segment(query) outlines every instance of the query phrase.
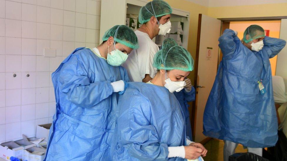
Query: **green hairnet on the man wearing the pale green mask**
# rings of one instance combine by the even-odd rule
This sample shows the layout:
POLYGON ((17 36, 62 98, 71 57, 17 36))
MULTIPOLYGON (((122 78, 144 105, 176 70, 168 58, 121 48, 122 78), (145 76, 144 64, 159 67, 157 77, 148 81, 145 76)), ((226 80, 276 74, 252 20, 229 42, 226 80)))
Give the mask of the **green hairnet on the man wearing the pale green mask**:
POLYGON ((134 31, 126 25, 116 25, 107 30, 102 38, 103 41, 108 40, 112 36, 114 41, 126 45, 132 49, 139 48, 138 38, 134 31))

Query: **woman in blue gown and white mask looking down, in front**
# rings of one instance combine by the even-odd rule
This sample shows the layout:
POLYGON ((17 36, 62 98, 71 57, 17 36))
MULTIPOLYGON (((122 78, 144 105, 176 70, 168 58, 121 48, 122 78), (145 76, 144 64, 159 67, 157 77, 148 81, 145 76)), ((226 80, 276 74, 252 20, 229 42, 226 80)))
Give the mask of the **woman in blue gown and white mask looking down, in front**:
POLYGON ((130 82, 119 97, 113 160, 184 160, 205 156, 203 145, 186 138, 183 111, 172 93, 183 89, 184 78, 193 70, 190 53, 168 38, 156 53, 153 66, 158 72, 150 82, 130 82))

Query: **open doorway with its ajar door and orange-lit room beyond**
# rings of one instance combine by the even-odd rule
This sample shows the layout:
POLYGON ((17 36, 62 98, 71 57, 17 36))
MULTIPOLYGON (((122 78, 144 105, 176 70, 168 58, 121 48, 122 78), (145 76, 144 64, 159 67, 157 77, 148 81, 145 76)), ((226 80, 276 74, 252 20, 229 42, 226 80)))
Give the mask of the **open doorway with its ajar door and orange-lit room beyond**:
MULTIPOLYGON (((218 38, 223 31, 227 28, 236 30, 238 32, 238 37, 242 39, 244 30, 252 24, 257 24, 266 30, 266 35, 274 38, 287 39, 287 33, 285 33, 285 30, 283 30, 287 26, 287 23, 285 23, 286 18, 287 16, 216 19, 199 14, 193 83, 194 87, 196 88, 196 101, 192 102, 190 111, 193 140, 196 142, 206 143, 210 139, 202 133, 203 113, 206 101, 215 80, 218 64, 222 59, 222 54, 218 53, 221 52, 221 50, 218 48, 218 38), (210 26, 212 26, 212 28, 210 26), (211 55, 208 55, 208 50, 211 50, 211 55)), ((280 73, 278 72, 278 69, 280 69, 278 64, 281 63, 281 66, 282 64, 286 64, 281 62, 281 59, 286 60, 284 57, 278 59, 277 61, 277 56, 270 59, 272 75, 278 75, 278 73, 280 73)))

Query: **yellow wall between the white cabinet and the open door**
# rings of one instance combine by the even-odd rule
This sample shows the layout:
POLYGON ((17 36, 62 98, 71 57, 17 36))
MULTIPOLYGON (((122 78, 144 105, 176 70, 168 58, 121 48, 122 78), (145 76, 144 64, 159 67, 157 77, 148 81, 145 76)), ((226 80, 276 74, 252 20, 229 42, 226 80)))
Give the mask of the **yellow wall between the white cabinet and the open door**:
MULTIPOLYGON (((207 15, 208 7, 201 6, 199 4, 192 3, 190 1, 179 1, 178 0, 165 0, 171 7, 189 11, 189 35, 188 35, 188 47, 187 50, 191 53, 191 56, 195 60, 196 55, 196 40, 197 40, 197 27, 198 27, 198 14, 202 13, 207 15)), ((191 72, 188 76, 191 82, 194 81, 194 72, 191 72)))

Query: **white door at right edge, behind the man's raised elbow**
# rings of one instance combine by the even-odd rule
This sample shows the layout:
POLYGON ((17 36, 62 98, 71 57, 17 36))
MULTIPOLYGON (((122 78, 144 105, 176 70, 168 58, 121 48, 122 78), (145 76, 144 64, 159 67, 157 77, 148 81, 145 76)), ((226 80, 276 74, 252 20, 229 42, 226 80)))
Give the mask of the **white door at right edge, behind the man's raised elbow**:
MULTIPOLYGON (((280 38, 283 40, 287 40, 287 19, 281 19, 280 26, 280 38)), ((279 52, 277 57, 277 65, 276 65, 276 75, 287 79, 287 47, 283 48, 281 52, 279 52)))

